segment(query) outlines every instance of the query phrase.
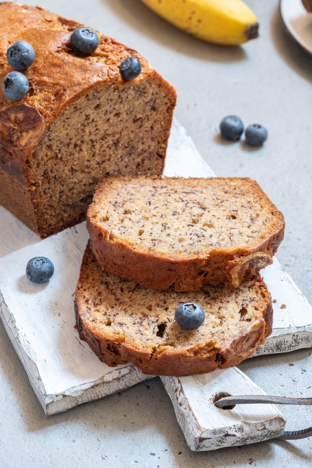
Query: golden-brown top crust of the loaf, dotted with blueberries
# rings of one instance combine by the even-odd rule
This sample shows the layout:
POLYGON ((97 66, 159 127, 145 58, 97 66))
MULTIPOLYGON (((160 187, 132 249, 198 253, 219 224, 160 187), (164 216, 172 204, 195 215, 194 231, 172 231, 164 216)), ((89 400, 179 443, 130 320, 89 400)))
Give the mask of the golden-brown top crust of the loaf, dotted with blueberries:
MULTIPOLYGON (((103 81, 109 84, 126 84, 118 66, 129 55, 136 56, 141 61, 143 78, 151 73, 157 74, 137 51, 98 31, 95 32, 100 44, 96 51, 87 57, 78 56, 70 46, 70 36, 74 29, 82 26, 85 25, 62 18, 41 7, 14 2, 0 3, 0 81, 13 70, 6 59, 9 44, 18 40, 32 44, 36 59, 23 71, 31 89, 14 104, 26 104, 37 109, 44 123, 54 120, 69 102, 96 84, 103 81)), ((160 81, 166 85, 161 77, 160 81)), ((168 84, 167 87, 172 89, 168 84)), ((12 101, 5 98, 1 91, 0 110, 10 107, 12 101)))

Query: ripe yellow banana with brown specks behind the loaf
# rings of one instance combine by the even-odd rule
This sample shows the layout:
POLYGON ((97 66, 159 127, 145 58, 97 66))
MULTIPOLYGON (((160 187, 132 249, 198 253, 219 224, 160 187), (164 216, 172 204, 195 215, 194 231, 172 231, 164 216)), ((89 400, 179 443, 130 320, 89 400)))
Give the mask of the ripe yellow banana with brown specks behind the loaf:
POLYGON ((198 39, 238 45, 258 37, 254 13, 241 0, 142 0, 162 18, 198 39))

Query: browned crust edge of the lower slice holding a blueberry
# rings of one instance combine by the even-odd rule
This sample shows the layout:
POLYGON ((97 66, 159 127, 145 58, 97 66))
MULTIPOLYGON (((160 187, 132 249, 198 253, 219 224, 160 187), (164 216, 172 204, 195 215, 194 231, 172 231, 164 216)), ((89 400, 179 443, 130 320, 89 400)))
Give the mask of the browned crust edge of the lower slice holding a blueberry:
MULTIPOLYGON (((229 341, 225 340, 223 345, 210 341, 178 349, 173 345, 152 346, 148 342, 138 344, 138 341, 127 339, 122 334, 111 336, 106 333, 110 327, 94 324, 94 321, 89 322, 84 313, 85 304, 87 302, 88 309, 99 307, 100 299, 95 299, 92 295, 96 287, 93 284, 98 285, 98 297, 102 301, 106 300, 103 282, 104 274, 87 246, 74 301, 77 328, 80 339, 86 341, 98 358, 108 366, 131 362, 149 375, 181 376, 206 373, 218 366, 227 368, 239 364, 243 359, 250 357, 272 332, 271 295, 259 275, 254 279, 255 287, 252 291, 256 291, 262 298, 262 309, 258 312, 258 319, 249 328, 243 329, 238 336, 232 336, 229 341)), ((126 284, 127 280, 124 280, 124 285, 126 284)), ((152 293, 150 290, 150 294, 152 293)), ((235 292, 229 294, 235 295, 235 292)))

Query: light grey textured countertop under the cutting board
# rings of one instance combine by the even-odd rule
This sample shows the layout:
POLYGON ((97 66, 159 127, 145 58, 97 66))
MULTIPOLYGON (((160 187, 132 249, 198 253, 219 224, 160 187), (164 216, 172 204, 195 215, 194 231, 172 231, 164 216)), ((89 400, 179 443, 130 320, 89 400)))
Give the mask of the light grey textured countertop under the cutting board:
MULTIPOLYGON (((30 2, 32 3, 32 2, 30 2)), ((203 43, 139 0, 33 2, 140 51, 178 94, 176 117, 220 176, 256 179, 283 212, 278 259, 312 302, 312 60, 285 36, 277 0, 249 0, 260 38, 242 47, 203 43), (225 144, 222 117, 263 124, 261 149, 225 144)), ((252 358, 239 368, 268 394, 312 396, 312 350, 252 358)), ((0 467, 268 467, 312 465, 312 438, 193 453, 159 378, 45 417, 0 322, 0 467)), ((287 430, 312 425, 312 407, 281 407, 287 430)))

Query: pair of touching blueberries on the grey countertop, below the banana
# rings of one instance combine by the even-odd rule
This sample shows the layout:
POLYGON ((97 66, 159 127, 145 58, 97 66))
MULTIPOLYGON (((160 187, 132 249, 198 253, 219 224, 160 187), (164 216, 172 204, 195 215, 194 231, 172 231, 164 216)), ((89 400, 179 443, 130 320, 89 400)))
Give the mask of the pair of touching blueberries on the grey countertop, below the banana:
MULTIPOLYGON (((220 124, 220 132, 227 140, 238 140, 244 132, 244 124, 237 116, 227 116, 220 124)), ((252 124, 247 127, 245 138, 249 145, 259 146, 268 138, 268 132, 262 125, 252 124)))

